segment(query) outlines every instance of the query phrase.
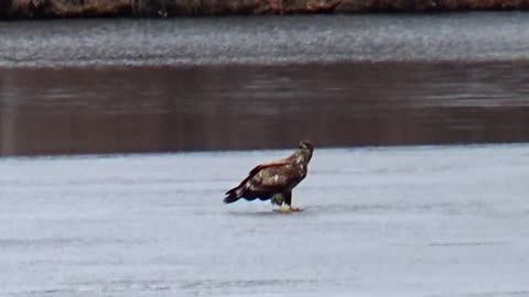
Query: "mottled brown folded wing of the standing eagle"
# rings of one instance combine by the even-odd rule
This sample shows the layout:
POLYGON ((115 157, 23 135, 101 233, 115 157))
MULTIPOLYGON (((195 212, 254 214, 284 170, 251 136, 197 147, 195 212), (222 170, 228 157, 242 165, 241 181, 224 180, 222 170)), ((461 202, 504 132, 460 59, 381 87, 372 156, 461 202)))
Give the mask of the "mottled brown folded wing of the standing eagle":
POLYGON ((237 187, 228 190, 224 201, 234 202, 239 198, 266 200, 299 180, 299 174, 288 158, 264 163, 250 170, 237 187))

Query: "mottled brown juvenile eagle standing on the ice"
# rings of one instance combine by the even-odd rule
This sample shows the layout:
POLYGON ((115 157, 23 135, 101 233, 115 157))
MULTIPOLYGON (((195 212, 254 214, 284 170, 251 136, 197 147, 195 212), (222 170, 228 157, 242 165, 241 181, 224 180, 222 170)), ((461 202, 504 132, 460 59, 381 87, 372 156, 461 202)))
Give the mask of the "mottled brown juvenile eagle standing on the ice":
POLYGON ((292 189, 306 176, 307 165, 314 146, 309 141, 300 142, 300 147, 290 156, 257 165, 237 187, 226 193, 225 204, 240 198, 246 200, 268 200, 272 205, 288 206, 287 211, 296 211, 292 206, 292 189))

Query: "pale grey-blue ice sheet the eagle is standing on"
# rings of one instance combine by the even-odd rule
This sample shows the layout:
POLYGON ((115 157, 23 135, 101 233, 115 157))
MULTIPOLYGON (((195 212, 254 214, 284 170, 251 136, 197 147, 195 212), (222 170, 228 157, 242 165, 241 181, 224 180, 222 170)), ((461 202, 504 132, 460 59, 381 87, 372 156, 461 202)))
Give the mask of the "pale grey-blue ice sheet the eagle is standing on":
POLYGON ((0 160, 1 296, 529 296, 529 145, 316 150, 305 210, 225 206, 290 151, 0 160))

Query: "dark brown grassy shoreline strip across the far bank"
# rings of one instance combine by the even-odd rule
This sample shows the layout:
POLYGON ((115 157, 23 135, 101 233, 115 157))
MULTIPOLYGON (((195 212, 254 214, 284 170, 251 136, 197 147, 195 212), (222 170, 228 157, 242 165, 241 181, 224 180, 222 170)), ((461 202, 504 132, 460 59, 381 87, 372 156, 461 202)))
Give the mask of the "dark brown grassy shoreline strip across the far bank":
POLYGON ((529 0, 2 0, 1 19, 529 10, 529 0))

